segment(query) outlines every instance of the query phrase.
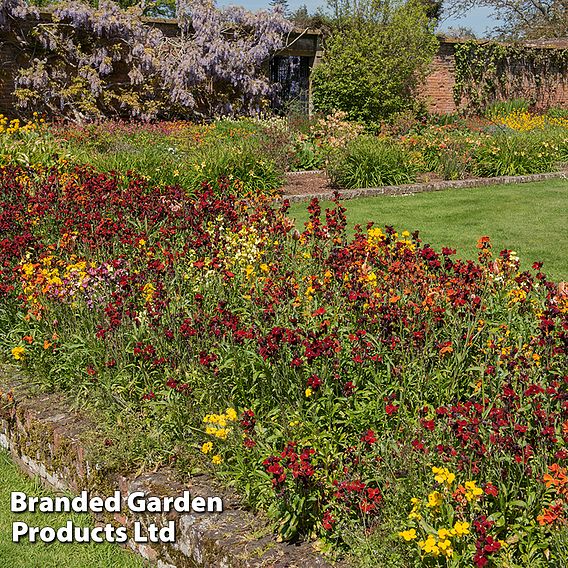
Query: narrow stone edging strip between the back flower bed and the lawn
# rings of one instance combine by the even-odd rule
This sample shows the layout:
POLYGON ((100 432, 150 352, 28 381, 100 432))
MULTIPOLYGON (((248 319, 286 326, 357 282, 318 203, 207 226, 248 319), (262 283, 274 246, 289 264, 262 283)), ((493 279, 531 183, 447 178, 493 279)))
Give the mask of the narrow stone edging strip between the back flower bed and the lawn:
MULTIPOLYGON (((546 181, 549 179, 568 179, 568 172, 550 172, 544 174, 530 174, 525 176, 501 176, 493 178, 470 178, 456 181, 435 181, 427 183, 414 183, 406 185, 386 185, 383 187, 366 187, 361 189, 339 189, 341 199, 355 199, 358 197, 374 197, 376 195, 411 195, 426 191, 441 191, 444 189, 465 189, 468 187, 483 187, 489 185, 505 185, 511 183, 529 183, 534 181, 546 181)), ((333 197, 332 191, 309 193, 303 195, 286 195, 281 200, 287 199, 290 203, 311 201, 314 198, 323 200, 333 197)))

